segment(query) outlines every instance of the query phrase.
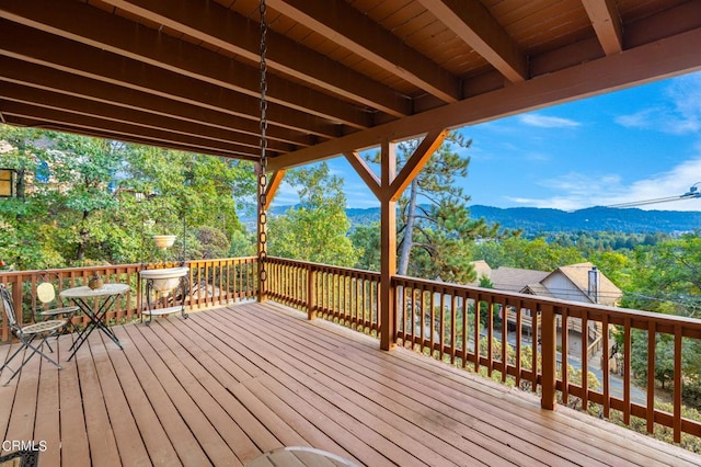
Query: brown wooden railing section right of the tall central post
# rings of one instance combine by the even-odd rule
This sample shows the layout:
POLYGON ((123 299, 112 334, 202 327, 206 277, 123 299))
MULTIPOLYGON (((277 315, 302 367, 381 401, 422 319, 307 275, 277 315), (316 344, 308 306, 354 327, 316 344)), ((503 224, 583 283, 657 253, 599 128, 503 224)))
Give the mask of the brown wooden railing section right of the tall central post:
POLYGON ((691 341, 701 339, 701 320, 413 277, 395 276, 393 286, 397 338, 404 345, 538 391, 547 408, 554 406, 556 396, 562 403, 576 402, 607 419, 618 411, 624 424, 634 417, 643 419, 648 433, 655 424, 668 426, 675 442, 682 432, 701 436, 701 423, 681 415, 682 350, 690 351, 691 341), (541 326, 524 326, 525 318, 533 316, 541 326), (579 329, 596 326, 604 332, 600 338, 597 332, 577 335, 567 331, 570 320, 581 320, 579 329), (634 391, 631 355, 635 329, 646 333, 648 376, 646 387, 634 391), (614 332, 623 342, 620 377, 611 373, 614 332), (591 341, 591 335, 597 339, 591 341), (675 342, 671 411, 655 407, 655 343, 662 335, 675 342), (601 350, 597 361, 589 358, 594 345, 601 350), (599 379, 600 387, 590 387, 589 373, 599 379))

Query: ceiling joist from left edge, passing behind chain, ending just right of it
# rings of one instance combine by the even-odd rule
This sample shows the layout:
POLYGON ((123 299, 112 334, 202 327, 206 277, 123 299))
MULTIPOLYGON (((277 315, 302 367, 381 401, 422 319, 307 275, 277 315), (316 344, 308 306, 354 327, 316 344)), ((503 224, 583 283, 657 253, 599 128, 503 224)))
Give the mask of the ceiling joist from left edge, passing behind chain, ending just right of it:
MULTIPOLYGON (((116 84, 10 57, 0 56, 0 70, 2 70, 0 73, 1 81, 118 105, 125 109, 150 112, 154 115, 171 116, 183 122, 212 126, 231 132, 232 138, 235 138, 239 133, 256 137, 261 133, 260 123, 250 118, 242 118, 210 109, 173 101, 160 95, 120 88, 116 84)), ((275 125, 268 125, 267 136, 271 140, 302 147, 318 143, 314 140, 315 138, 308 135, 275 125)))

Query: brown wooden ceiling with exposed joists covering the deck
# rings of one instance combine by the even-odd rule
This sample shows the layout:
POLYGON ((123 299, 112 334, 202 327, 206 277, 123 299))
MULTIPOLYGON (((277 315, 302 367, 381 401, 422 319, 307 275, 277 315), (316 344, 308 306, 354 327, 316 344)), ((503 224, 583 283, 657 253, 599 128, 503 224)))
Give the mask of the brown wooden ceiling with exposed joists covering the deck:
MULTIPOLYGON (((281 169, 701 69, 699 0, 267 0, 281 169)), ((256 0, 0 0, 0 118, 260 153, 256 0)))

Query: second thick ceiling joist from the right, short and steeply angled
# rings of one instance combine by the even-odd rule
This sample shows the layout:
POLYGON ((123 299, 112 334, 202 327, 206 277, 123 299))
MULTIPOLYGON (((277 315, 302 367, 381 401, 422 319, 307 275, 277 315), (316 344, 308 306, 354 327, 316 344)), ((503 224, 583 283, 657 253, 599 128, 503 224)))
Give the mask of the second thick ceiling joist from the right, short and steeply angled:
POLYGON ((418 0, 512 82, 528 78, 528 60, 479 0, 418 0))

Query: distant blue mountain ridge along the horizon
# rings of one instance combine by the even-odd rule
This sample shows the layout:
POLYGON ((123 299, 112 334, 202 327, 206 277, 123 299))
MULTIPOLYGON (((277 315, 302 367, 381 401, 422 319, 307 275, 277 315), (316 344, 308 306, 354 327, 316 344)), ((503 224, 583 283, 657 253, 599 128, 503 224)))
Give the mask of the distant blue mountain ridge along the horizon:
MULTIPOLYGON (((291 206, 276 206, 273 215, 284 214, 291 206)), ((346 209, 353 226, 368 225, 380 220, 380 208, 346 209)), ((505 229, 521 229, 526 236, 542 232, 568 231, 620 231, 628 234, 665 232, 678 234, 701 230, 701 212, 642 210, 590 207, 574 212, 542 209, 537 207, 499 208, 470 206, 470 217, 484 218, 490 224, 499 224, 505 229)), ((255 221, 255 219, 252 219, 255 221)))

